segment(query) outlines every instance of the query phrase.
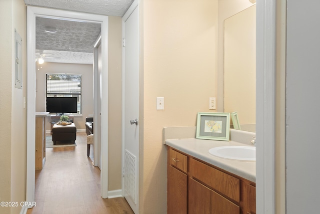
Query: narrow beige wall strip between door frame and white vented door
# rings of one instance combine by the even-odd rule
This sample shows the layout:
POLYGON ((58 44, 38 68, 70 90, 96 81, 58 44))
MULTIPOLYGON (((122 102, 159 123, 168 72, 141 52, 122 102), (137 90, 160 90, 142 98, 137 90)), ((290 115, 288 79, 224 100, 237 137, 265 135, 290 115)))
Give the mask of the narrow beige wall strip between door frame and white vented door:
POLYGON ((109 17, 108 190, 121 189, 121 17, 109 17))

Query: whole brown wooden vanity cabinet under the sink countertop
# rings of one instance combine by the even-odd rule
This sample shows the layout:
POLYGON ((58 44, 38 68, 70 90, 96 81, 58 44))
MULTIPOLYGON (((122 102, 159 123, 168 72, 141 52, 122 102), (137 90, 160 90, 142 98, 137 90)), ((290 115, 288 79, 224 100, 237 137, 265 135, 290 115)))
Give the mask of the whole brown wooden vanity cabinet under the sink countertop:
POLYGON ((255 184, 253 182, 233 176, 171 147, 168 147, 167 167, 168 214, 255 214, 255 184), (180 159, 175 158, 179 155, 182 155, 179 158, 184 158, 184 161, 182 161, 183 164, 177 165, 180 159), (178 161, 175 162, 172 158, 178 161), (187 169, 181 171, 175 168, 181 167, 181 165, 187 169), (183 174, 183 178, 181 174, 183 174), (184 196, 184 194, 186 195, 184 196), (187 204, 184 205, 186 201, 187 204), (184 209, 186 206, 187 210, 184 209))

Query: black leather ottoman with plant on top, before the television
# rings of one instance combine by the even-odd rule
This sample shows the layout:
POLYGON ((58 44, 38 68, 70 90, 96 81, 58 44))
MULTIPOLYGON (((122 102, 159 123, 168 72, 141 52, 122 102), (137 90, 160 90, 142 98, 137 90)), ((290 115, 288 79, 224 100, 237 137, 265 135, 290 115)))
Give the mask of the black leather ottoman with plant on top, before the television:
POLYGON ((56 141, 75 141, 76 139, 76 127, 74 123, 71 125, 57 125, 52 127, 52 141, 55 145, 56 141))

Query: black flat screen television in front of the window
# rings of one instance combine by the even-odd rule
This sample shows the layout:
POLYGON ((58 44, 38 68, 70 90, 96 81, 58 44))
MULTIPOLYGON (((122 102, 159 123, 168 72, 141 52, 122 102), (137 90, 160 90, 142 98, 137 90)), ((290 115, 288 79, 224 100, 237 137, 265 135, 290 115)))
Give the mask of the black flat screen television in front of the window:
POLYGON ((49 113, 64 114, 77 113, 76 97, 47 97, 46 111, 49 113))

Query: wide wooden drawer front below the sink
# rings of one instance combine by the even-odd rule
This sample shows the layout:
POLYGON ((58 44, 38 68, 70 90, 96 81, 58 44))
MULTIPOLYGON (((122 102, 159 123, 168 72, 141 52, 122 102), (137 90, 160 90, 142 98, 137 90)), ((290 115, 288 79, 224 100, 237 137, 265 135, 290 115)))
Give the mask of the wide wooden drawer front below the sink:
POLYGON ((193 158, 189 159, 189 175, 214 190, 240 202, 240 180, 193 158))

